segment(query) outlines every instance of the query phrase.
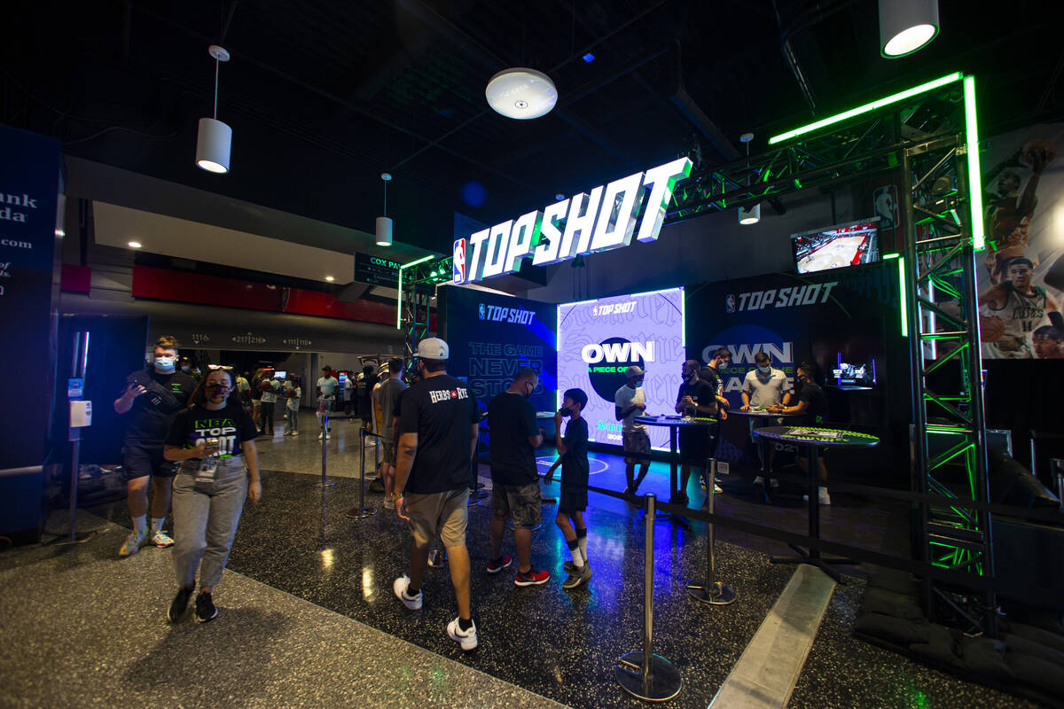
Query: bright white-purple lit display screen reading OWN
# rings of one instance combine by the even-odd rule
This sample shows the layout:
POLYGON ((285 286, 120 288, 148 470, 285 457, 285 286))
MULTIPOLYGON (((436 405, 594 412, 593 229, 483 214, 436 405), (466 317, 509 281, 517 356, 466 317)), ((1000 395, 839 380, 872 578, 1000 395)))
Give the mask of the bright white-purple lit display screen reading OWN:
MULTIPOLYGON (((675 413, 683 339, 683 288, 615 296, 558 306, 558 402, 566 389, 587 393, 588 438, 621 444, 614 395, 632 365, 646 372, 647 415, 675 413)), ((668 450, 668 429, 648 427, 650 444, 668 450)))

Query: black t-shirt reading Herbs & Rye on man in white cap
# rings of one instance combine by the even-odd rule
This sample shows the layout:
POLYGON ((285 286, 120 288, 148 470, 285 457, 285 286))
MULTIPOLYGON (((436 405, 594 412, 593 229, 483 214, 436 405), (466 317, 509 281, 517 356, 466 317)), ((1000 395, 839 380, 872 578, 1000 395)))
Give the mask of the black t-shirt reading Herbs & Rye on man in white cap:
POLYGON ((417 434, 406 492, 429 494, 469 487, 469 426, 480 421, 469 387, 448 374, 430 376, 402 392, 399 409, 399 436, 417 434))

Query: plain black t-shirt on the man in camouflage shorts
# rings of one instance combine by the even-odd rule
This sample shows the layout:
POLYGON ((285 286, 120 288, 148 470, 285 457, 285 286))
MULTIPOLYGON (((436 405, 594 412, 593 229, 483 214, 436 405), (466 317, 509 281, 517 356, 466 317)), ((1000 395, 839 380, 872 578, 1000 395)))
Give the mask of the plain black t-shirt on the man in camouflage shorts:
POLYGON ((535 406, 520 394, 503 391, 487 404, 492 482, 529 485, 538 480, 530 436, 538 436, 535 406))

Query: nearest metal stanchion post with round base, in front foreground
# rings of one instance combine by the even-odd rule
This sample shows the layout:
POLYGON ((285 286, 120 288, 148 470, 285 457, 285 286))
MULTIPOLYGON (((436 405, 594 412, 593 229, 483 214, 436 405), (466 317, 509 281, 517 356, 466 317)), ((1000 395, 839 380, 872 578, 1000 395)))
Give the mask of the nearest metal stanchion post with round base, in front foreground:
POLYGON ((643 651, 617 658, 613 676, 621 689, 641 699, 665 702, 680 693, 680 672, 653 653, 654 628, 654 505, 652 492, 645 495, 643 563, 643 651))

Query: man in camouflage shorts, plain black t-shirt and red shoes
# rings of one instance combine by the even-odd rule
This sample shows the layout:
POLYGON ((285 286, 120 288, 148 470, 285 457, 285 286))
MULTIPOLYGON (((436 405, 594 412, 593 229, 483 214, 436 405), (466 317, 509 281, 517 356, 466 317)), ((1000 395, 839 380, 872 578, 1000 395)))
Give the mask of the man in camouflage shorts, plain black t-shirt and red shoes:
POLYGON ((532 529, 541 524, 539 474, 535 449, 543 445, 543 432, 535 423, 535 407, 529 396, 539 384, 531 367, 517 372, 513 384, 487 405, 492 455, 492 560, 487 573, 497 574, 513 561, 502 555, 502 528, 514 521, 517 548, 516 586, 541 586, 550 572, 532 568, 532 529))

